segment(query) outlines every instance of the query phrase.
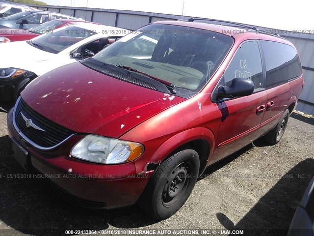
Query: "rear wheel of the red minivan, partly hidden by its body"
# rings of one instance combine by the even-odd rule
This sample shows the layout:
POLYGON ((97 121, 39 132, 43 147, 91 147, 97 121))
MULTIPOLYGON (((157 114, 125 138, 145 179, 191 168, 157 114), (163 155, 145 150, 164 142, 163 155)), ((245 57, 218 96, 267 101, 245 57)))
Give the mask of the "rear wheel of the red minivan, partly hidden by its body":
POLYGON ((287 124, 288 124, 288 118, 289 118, 289 111, 286 110, 282 118, 279 120, 278 124, 275 128, 270 130, 265 136, 264 140, 267 141, 271 145, 278 144, 278 142, 283 137, 287 124))

